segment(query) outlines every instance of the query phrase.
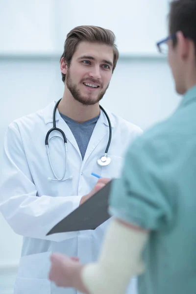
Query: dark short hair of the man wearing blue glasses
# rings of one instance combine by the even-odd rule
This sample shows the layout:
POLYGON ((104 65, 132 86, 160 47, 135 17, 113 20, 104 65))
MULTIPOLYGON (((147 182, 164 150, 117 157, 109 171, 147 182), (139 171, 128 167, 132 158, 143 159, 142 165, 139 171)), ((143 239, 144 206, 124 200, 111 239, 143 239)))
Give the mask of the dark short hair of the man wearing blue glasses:
MULTIPOLYGON (((172 0, 169 13, 169 31, 174 35, 182 31, 186 38, 191 39, 196 49, 196 0, 172 0)), ((173 38, 173 46, 177 39, 173 38)))

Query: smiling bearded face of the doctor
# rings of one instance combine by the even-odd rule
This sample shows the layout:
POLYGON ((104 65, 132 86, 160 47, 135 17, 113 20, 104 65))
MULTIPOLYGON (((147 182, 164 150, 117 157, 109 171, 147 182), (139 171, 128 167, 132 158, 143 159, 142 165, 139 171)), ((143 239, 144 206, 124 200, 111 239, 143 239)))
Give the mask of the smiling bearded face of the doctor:
POLYGON ((70 66, 66 65, 66 85, 75 100, 93 105, 104 96, 112 77, 113 57, 111 46, 78 44, 70 66))

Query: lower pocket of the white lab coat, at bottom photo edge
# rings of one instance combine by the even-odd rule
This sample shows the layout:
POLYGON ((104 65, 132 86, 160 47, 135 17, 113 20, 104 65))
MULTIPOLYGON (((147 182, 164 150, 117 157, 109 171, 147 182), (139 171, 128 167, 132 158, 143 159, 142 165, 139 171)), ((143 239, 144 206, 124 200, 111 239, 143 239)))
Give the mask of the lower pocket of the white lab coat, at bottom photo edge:
POLYGON ((50 294, 50 282, 47 279, 30 279, 18 277, 14 294, 50 294))

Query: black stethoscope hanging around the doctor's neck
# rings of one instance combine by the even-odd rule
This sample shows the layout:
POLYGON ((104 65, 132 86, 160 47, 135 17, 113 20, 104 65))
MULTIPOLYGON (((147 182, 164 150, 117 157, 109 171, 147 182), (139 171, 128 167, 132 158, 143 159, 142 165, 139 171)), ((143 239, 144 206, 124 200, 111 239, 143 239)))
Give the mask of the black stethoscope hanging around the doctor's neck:
MULTIPOLYGON (((72 176, 70 176, 70 177, 68 177, 68 178, 65 178, 65 175, 66 175, 66 172, 67 172, 67 166, 68 166, 67 138, 66 138, 66 136, 65 136, 65 133, 64 133, 60 128, 56 127, 56 109, 57 109, 58 104, 59 104, 60 101, 61 101, 61 99, 59 99, 59 100, 56 102, 55 106, 54 106, 54 110, 53 110, 53 127, 49 129, 49 131, 48 131, 48 133, 47 133, 47 135, 46 135, 46 139, 45 139, 45 145, 46 145, 46 148, 47 148, 47 154, 48 154, 48 159, 49 159, 49 165, 50 165, 51 171, 52 171, 52 173, 53 173, 53 175, 54 175, 54 177, 55 177, 54 179, 52 179, 52 178, 48 178, 49 181, 51 181, 51 180, 52 180, 52 181, 65 181, 65 180, 68 180, 68 179, 71 179, 71 178, 72 178, 72 176), (53 131, 58 131, 58 132, 60 132, 63 138, 61 138, 61 137, 59 137, 59 136, 57 136, 57 135, 56 135, 56 136, 53 136, 53 137, 51 137, 51 138, 49 138, 49 134, 50 134, 51 132, 53 132, 53 131), (58 178, 57 175, 55 174, 54 169, 53 169, 53 167, 52 167, 52 163, 51 163, 51 159, 50 159, 50 154, 49 154, 49 141, 50 141, 51 139, 54 139, 55 137, 58 137, 58 138, 62 139, 63 142, 64 142, 64 145, 65 145, 66 163, 65 163, 65 171, 64 171, 63 176, 62 176, 61 178, 58 178)), ((105 149, 105 154, 104 154, 103 156, 98 157, 98 160, 97 160, 98 165, 101 166, 101 167, 104 167, 104 166, 109 165, 110 162, 111 162, 111 158, 109 157, 109 155, 107 155, 107 153, 108 153, 108 149, 109 149, 109 147, 110 147, 111 138, 112 138, 112 126, 111 126, 111 122, 110 122, 110 119, 109 119, 109 117, 108 117, 106 111, 103 109, 102 106, 99 105, 99 107, 100 107, 100 109, 103 111, 103 113, 105 114, 105 116, 106 116, 106 118, 107 118, 107 121, 108 121, 108 124, 109 124, 109 139, 108 139, 107 147, 106 147, 106 149, 105 149)))

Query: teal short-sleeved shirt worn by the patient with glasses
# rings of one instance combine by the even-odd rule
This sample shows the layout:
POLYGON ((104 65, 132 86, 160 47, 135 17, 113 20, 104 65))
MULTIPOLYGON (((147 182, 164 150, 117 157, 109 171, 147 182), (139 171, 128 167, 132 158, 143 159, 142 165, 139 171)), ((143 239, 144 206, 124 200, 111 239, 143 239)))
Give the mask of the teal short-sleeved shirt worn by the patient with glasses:
POLYGON ((150 230, 139 294, 196 294, 196 87, 131 145, 109 202, 150 230))

